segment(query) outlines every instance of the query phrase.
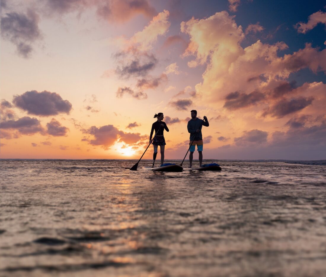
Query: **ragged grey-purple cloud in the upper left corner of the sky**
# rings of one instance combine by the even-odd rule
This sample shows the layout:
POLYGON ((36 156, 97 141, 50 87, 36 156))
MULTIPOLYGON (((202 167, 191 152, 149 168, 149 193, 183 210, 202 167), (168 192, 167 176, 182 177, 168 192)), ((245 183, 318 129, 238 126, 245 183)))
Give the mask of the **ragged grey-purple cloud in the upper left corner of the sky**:
POLYGON ((32 44, 42 38, 38 28, 39 17, 33 10, 28 10, 27 14, 10 12, 1 16, 1 36, 11 41, 20 56, 30 57, 32 44))

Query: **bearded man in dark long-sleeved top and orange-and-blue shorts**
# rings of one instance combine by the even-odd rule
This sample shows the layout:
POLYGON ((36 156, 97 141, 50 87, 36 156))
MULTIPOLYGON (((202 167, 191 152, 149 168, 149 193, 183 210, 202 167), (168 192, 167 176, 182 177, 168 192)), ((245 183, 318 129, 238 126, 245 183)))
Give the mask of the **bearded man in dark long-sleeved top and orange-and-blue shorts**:
POLYGON ((187 125, 187 129, 188 132, 190 133, 190 142, 189 142, 189 168, 192 167, 192 159, 193 159, 193 154, 195 151, 195 146, 197 145, 197 151, 199 154, 199 167, 201 167, 201 163, 203 161, 203 154, 202 154, 202 150, 203 150, 203 138, 202 138, 202 134, 201 134, 201 126, 209 126, 207 117, 204 116, 204 120, 199 119, 197 117, 197 111, 196 110, 192 110, 191 112, 191 119, 188 121, 188 125, 187 125))

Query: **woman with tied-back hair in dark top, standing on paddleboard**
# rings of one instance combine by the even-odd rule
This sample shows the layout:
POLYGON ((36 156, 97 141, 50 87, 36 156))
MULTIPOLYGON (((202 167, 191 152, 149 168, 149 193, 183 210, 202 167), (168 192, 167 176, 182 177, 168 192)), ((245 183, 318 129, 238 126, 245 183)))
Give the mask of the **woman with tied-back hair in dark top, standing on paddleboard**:
POLYGON ((163 113, 158 113, 157 115, 154 115, 154 118, 157 117, 157 121, 153 123, 152 125, 152 130, 151 130, 151 134, 149 136, 149 143, 152 143, 152 136, 153 136, 153 132, 155 130, 155 137, 153 140, 153 146, 154 146, 154 153, 153 153, 153 165, 152 167, 154 167, 154 162, 156 160, 156 155, 157 155, 157 147, 160 146, 160 150, 161 150, 161 164, 164 163, 164 148, 165 148, 165 139, 164 139, 164 135, 163 135, 163 131, 164 129, 168 132, 169 128, 168 126, 166 126, 166 123, 163 122, 163 118, 164 115, 163 113))

